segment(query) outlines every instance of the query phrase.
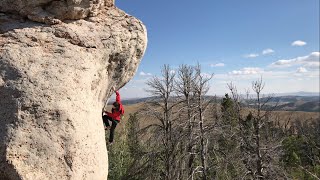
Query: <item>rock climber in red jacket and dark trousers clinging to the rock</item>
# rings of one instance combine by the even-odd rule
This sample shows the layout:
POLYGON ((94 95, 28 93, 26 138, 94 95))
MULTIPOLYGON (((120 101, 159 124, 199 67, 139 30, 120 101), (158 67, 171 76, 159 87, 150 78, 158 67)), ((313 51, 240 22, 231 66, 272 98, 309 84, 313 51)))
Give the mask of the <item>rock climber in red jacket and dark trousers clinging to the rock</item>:
MULTIPOLYGON (((115 91, 114 87, 112 87, 112 91, 115 91)), ((120 122, 121 117, 124 114, 124 108, 120 100, 119 91, 115 91, 115 92, 116 92, 116 101, 112 104, 111 113, 108 111, 104 111, 102 116, 103 122, 105 124, 105 130, 110 129, 110 135, 109 135, 110 145, 113 143, 114 131, 117 127, 117 124, 120 122), (111 123, 111 127, 110 127, 110 123, 111 123)))

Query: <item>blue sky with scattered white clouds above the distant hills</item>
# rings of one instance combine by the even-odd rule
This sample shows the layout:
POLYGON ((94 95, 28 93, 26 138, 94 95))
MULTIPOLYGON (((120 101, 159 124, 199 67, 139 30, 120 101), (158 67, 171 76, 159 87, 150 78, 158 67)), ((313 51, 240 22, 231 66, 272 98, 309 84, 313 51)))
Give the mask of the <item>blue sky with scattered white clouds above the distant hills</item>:
POLYGON ((116 0, 140 19, 148 47, 124 98, 145 97, 163 64, 199 62, 214 73, 209 94, 264 79, 264 93, 319 92, 319 0, 116 0))

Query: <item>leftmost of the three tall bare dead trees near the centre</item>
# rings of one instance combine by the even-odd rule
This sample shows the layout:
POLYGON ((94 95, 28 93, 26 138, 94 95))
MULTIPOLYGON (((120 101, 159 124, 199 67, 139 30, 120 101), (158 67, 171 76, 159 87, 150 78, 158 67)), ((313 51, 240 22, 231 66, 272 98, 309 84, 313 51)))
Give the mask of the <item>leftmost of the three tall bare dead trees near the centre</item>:
MULTIPOLYGON (((154 141, 155 143, 161 142, 161 147, 163 149, 163 166, 164 172, 162 175, 163 179, 171 180, 175 179, 176 169, 175 168, 175 141, 173 139, 173 107, 174 104, 171 102, 172 93, 174 91, 174 77, 175 74, 172 73, 169 65, 164 65, 162 68, 162 77, 153 77, 147 82, 150 92, 156 100, 150 102, 146 113, 159 121, 159 124, 152 124, 149 127, 158 127, 157 132, 161 135, 156 134, 154 141), (157 139, 159 141, 157 141, 157 139)), ((151 162, 152 163, 152 162, 151 162)))

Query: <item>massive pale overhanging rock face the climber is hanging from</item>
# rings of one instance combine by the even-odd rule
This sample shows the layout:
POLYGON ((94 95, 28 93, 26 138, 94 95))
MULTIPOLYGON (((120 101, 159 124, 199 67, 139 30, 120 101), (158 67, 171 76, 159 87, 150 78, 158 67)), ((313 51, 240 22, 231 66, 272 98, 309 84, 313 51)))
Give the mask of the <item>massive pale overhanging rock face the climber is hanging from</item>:
POLYGON ((0 7, 0 179, 107 179, 101 110, 111 87, 135 74, 144 25, 103 0, 1 0, 0 7), (51 26, 26 20, 18 2, 50 4, 46 12, 66 18, 51 26), (93 2, 99 11, 90 15, 93 2), (68 4, 63 13, 48 8, 57 3, 68 4), (77 3, 89 10, 69 14, 77 3))

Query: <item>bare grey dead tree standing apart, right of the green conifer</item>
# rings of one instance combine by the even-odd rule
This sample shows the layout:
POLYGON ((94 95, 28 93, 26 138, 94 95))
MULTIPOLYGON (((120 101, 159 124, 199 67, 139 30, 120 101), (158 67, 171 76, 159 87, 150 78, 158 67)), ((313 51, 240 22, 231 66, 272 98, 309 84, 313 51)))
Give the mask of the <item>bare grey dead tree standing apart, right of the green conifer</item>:
POLYGON ((232 84, 229 85, 236 105, 240 128, 240 151, 242 162, 246 167, 244 177, 249 176, 252 179, 283 177, 278 161, 282 137, 271 132, 274 126, 270 114, 274 109, 267 109, 266 105, 272 97, 262 98, 263 88, 262 78, 252 83, 255 98, 249 102, 251 103, 248 106, 250 108, 244 109, 242 107, 244 101, 238 94, 236 87, 232 84))

